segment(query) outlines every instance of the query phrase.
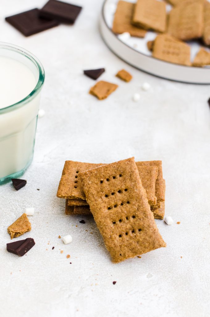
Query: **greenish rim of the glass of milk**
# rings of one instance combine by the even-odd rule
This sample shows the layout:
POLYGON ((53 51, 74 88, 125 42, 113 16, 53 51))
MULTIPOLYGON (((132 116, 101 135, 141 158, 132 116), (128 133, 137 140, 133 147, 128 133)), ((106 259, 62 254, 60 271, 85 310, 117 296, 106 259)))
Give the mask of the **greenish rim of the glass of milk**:
POLYGON ((24 55, 26 58, 30 59, 30 61, 32 61, 35 64, 35 66, 37 67, 37 69, 39 71, 38 81, 37 81, 34 89, 30 92, 30 94, 28 94, 25 98, 23 98, 22 100, 19 100, 18 102, 14 103, 10 106, 1 108, 0 114, 2 114, 2 113, 6 113, 9 111, 15 110, 15 109, 23 106, 26 102, 33 99, 39 93, 39 91, 41 90, 41 88, 43 86, 44 79, 45 79, 45 73, 44 73, 44 68, 43 68, 42 63, 38 60, 38 58, 36 56, 34 56, 32 53, 30 53, 26 49, 23 49, 20 46, 13 45, 10 43, 5 43, 5 42, 0 42, 0 49, 7 49, 10 51, 16 52, 18 54, 24 55))

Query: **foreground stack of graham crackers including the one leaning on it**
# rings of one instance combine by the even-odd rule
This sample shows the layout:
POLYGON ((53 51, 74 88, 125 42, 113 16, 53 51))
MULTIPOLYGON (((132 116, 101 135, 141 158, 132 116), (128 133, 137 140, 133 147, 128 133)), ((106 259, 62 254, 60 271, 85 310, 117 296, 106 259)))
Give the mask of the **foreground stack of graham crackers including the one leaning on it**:
POLYGON ((166 246, 154 221, 165 212, 161 161, 66 161, 57 197, 67 215, 93 215, 113 262, 166 246))

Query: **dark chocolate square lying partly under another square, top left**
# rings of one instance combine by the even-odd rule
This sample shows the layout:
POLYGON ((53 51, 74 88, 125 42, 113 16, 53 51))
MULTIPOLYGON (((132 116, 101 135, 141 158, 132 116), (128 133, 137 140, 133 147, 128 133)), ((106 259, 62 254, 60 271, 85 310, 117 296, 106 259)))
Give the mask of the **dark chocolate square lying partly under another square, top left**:
POLYGON ((57 21, 40 18, 38 9, 32 9, 18 13, 14 16, 8 16, 5 20, 24 36, 30 36, 59 25, 57 21))

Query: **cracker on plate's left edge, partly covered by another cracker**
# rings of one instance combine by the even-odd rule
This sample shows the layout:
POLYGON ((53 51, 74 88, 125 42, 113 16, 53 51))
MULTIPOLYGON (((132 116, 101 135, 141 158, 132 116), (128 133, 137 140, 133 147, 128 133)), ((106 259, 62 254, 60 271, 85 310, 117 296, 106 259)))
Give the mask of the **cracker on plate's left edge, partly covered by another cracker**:
POLYGON ((117 34, 129 32, 131 36, 144 37, 146 30, 131 24, 135 4, 120 0, 117 3, 112 31, 117 34))

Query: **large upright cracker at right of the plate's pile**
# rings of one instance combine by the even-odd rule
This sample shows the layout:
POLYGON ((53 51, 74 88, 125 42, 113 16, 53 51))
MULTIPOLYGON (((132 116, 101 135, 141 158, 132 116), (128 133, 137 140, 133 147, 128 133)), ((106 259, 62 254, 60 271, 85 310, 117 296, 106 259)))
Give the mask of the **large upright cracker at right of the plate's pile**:
POLYGON ((201 3, 179 5, 169 13, 167 33, 177 39, 188 41, 203 35, 204 14, 201 3))

